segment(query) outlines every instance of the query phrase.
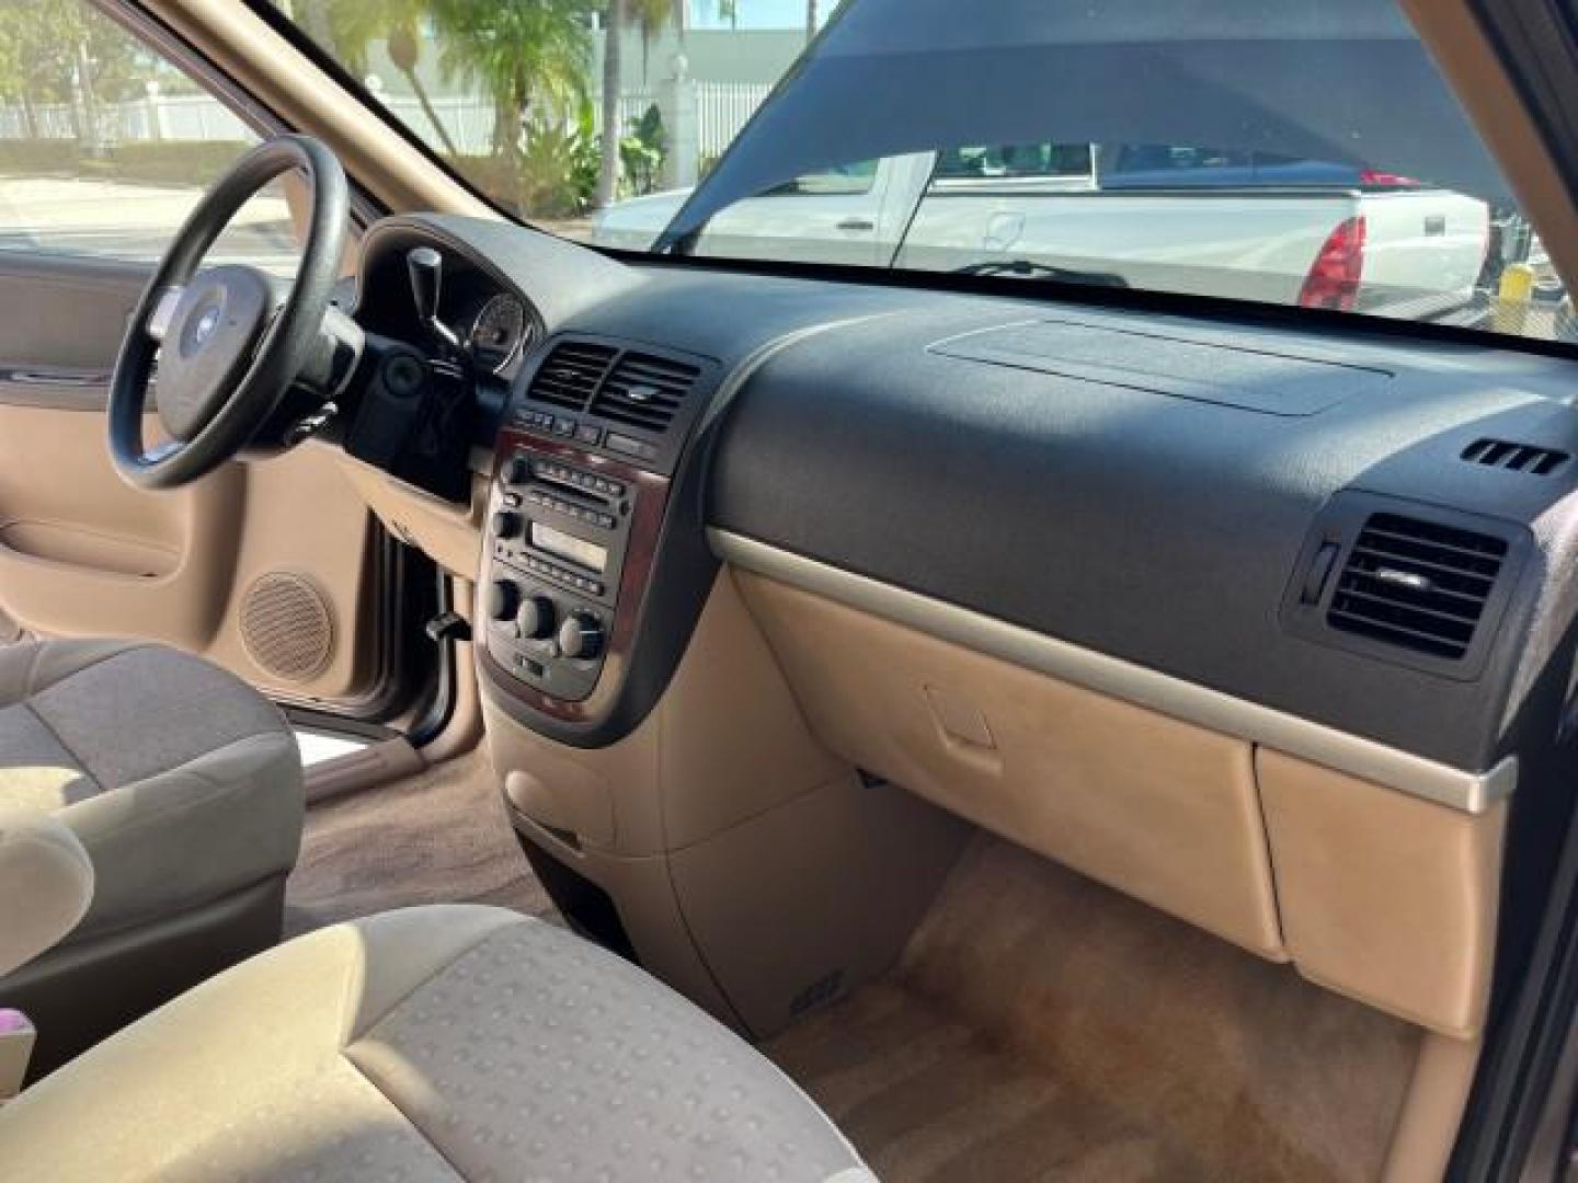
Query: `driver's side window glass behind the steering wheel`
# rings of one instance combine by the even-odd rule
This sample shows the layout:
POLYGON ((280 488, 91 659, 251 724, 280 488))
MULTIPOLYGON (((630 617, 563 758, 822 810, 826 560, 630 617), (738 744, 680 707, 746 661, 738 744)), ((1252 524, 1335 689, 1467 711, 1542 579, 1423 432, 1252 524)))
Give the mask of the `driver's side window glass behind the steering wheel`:
MULTIPOLYGON (((88 0, 0 0, 0 252, 158 259, 254 144, 232 110, 88 0)), ((290 273, 297 256, 275 185, 208 257, 290 273)))

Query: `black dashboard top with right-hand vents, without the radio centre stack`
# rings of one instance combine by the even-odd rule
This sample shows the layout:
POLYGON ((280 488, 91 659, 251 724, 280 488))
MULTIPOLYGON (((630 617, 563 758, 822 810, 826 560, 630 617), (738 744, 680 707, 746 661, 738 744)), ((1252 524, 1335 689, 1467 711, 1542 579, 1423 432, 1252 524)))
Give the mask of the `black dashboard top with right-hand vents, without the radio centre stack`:
POLYGON ((716 363, 680 473, 697 524, 1472 771, 1535 726, 1537 686, 1565 694, 1575 361, 1032 289, 633 267, 503 222, 393 219, 369 251, 412 237, 522 293, 544 342, 716 363), (1356 517, 1354 497, 1378 500, 1356 517), (1365 560, 1376 544, 1393 549, 1365 560), (1335 571, 1300 628, 1289 596, 1316 562, 1335 571), (1344 588, 1357 617, 1379 604, 1357 640, 1329 628, 1344 588), (1450 656, 1458 617, 1472 662, 1450 656))

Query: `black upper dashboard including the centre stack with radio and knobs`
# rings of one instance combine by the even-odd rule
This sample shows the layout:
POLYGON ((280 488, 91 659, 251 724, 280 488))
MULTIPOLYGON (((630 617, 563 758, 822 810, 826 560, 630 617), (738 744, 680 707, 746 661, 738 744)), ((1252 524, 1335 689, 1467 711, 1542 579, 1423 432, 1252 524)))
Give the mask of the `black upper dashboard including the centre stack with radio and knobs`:
MULTIPOLYGON (((394 219, 371 238, 361 319, 379 331, 415 331, 380 257, 394 268, 418 240, 454 259, 456 320, 503 333, 488 356, 519 350, 503 405, 478 429, 491 445, 484 552, 499 568, 480 573, 484 596, 503 614, 552 587, 555 620, 584 610, 617 640, 574 677, 529 680, 530 719, 557 738, 606 743, 650 708, 677 653, 633 667, 638 618, 675 610, 650 631, 683 636, 699 604, 683 607, 666 579, 705 588, 709 528, 1469 771, 1507 754, 1509 722, 1561 640, 1553 623, 1532 647, 1516 639, 1565 596, 1545 573, 1572 547, 1561 506, 1578 464, 1535 475, 1468 453, 1501 442, 1578 454, 1569 361, 639 271, 447 218, 394 219), (1327 576, 1348 573, 1357 530, 1381 513, 1404 532, 1504 547, 1493 595, 1442 601, 1442 618, 1483 614, 1461 653, 1433 639, 1441 606, 1409 601, 1395 563, 1344 601, 1357 614, 1332 609, 1341 579, 1314 603, 1294 593, 1316 558, 1327 576), (527 579, 494 598, 505 568, 527 579)), ((1428 544, 1393 541, 1404 554, 1390 557, 1428 544)), ((549 640, 527 623, 513 640, 549 640)), ((491 674, 530 672, 532 651, 500 645, 491 674)))

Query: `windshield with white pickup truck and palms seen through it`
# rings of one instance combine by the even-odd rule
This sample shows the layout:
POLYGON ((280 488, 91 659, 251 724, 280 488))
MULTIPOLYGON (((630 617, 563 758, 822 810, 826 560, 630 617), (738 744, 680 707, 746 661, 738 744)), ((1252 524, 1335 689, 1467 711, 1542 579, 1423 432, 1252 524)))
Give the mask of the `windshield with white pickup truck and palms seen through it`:
POLYGON ((1397 0, 275 0, 601 246, 1578 341, 1397 0))

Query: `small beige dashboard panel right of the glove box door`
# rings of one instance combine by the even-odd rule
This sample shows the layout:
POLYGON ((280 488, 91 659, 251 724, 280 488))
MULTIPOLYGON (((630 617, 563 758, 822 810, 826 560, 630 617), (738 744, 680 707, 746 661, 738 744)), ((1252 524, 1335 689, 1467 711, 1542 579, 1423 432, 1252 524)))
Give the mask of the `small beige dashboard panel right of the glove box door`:
POLYGON ((1507 803, 1469 814, 1256 752, 1299 972, 1442 1035, 1485 1021, 1507 803))

